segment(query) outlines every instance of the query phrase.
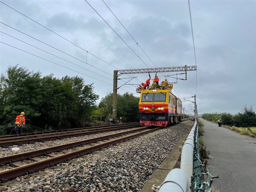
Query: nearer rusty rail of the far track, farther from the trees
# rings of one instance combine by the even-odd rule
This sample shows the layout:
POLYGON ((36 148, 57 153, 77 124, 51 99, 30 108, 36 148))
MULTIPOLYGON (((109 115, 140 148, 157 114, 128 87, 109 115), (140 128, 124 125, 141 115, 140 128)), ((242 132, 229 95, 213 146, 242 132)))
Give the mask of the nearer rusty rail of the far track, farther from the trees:
MULTIPOLYGON (((141 126, 141 125, 139 125, 141 126)), ((46 135, 46 136, 42 136, 41 137, 31 137, 31 136, 25 136, 22 139, 21 138, 6 138, 6 140, 4 141, 0 141, 0 146, 1 147, 5 147, 5 146, 10 146, 10 145, 21 145, 21 144, 26 144, 29 142, 36 142, 36 141, 46 141, 46 140, 52 140, 52 139, 62 139, 64 137, 71 137, 71 136, 78 136, 78 135, 84 135, 84 134, 92 134, 92 133, 99 133, 99 132, 106 132, 106 131, 112 131, 112 130, 117 130, 117 129, 128 129, 128 128, 134 128, 134 127, 138 127, 138 125, 130 125, 130 126, 126 126, 126 127, 120 127, 120 128, 110 128, 110 129, 102 129, 102 130, 95 130, 95 131, 91 131, 91 130, 82 130, 80 132, 72 132, 72 133, 62 133, 62 134, 58 134, 58 135, 46 135)), ((38 135, 40 136, 40 135, 38 135)))

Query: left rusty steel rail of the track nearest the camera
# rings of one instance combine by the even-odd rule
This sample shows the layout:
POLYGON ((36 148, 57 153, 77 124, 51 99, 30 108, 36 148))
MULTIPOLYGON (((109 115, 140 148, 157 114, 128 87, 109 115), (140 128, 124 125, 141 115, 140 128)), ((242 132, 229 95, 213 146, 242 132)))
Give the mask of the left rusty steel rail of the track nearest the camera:
POLYGON ((19 154, 10 155, 10 156, 3 156, 3 157, 0 157, 0 164, 6 164, 6 163, 14 162, 14 161, 27 159, 29 157, 40 156, 40 155, 60 151, 60 150, 67 149, 67 148, 73 148, 73 147, 77 147, 77 146, 80 146, 80 145, 89 144, 89 143, 92 143, 92 142, 95 142, 95 141, 109 139, 109 138, 112 138, 112 137, 116 137, 118 135, 123 135, 123 134, 136 132, 136 131, 142 131, 142 130, 145 130, 145 129, 148 129, 148 127, 133 129, 133 130, 130 130, 130 131, 119 132, 119 133, 114 133, 114 134, 110 134, 110 135, 104 135, 104 136, 101 136, 101 137, 94 137, 94 138, 91 138, 91 139, 76 141, 76 142, 67 143, 67 144, 63 144, 63 145, 57 145, 57 146, 54 146, 54 147, 42 148, 42 149, 38 149, 38 150, 28 151, 28 152, 25 152, 25 153, 19 153, 19 154))

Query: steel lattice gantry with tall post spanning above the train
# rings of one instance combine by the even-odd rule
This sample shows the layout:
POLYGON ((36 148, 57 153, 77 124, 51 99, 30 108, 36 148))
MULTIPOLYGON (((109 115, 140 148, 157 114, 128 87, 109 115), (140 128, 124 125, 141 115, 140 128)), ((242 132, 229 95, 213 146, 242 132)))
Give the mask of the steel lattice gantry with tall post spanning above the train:
POLYGON ((187 71, 196 71, 196 66, 181 66, 181 67, 161 67, 161 68, 144 68, 144 69, 124 69, 114 70, 113 78, 113 113, 112 118, 116 120, 116 106, 117 106, 117 77, 123 74, 136 74, 136 73, 163 73, 163 72, 179 72, 185 71, 187 79, 187 71))

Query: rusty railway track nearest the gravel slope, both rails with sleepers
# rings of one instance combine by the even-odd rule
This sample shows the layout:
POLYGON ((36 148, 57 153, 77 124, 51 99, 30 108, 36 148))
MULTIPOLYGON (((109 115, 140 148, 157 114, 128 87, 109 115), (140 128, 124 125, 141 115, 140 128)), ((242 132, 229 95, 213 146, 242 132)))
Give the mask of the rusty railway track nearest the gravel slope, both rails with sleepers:
MULTIPOLYGON (((20 153, 12 156, 1 157, 0 158, 1 164, 16 162, 16 161, 24 160, 27 158, 30 158, 31 161, 37 161, 37 162, 24 164, 24 165, 20 164, 21 166, 14 164, 14 166, 18 166, 18 167, 0 171, 0 181, 5 182, 9 179, 24 175, 26 173, 31 173, 36 170, 43 169, 45 167, 52 166, 54 164, 58 164, 60 162, 67 161, 78 156, 83 156, 95 150, 108 147, 110 145, 122 142, 124 140, 129 140, 131 138, 140 136, 142 134, 156 131, 161 127, 156 127, 151 129, 149 128, 150 127, 143 127, 143 128, 130 130, 130 131, 125 131, 125 132, 110 134, 106 136, 96 137, 92 139, 68 143, 64 145, 54 146, 51 148, 38 149, 34 151, 29 151, 26 153, 20 153), (64 150, 68 148, 69 148, 69 151, 64 150), (58 154, 57 155, 51 154, 53 152, 55 153, 57 152, 58 154), (40 159, 36 157, 40 155, 48 155, 50 157, 47 159, 40 159)), ((28 161, 26 163, 28 163, 28 161)))

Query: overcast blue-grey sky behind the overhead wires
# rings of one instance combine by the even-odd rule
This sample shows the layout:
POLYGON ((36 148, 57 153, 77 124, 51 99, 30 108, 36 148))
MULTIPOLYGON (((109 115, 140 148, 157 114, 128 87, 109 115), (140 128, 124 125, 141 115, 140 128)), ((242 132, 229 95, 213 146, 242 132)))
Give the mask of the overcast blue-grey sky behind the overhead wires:
MULTIPOLYGON (((19 64, 31 71, 40 71, 42 76, 51 73, 58 78, 66 75, 79 76, 84 78, 85 84, 94 84, 95 92, 101 99, 108 92, 113 92, 114 70, 196 65, 188 1, 104 1, 154 63, 140 47, 137 49, 136 42, 103 1, 88 1, 124 42, 139 54, 146 65, 86 1, 1 1, 82 48, 0 3, 2 23, 62 52, 2 23, 1 32, 80 66, 0 33, 1 42, 76 71, 1 43, 1 74, 5 73, 8 66, 19 64)), ((188 71, 188 79, 177 80, 173 93, 180 98, 196 94, 199 114, 236 114, 245 105, 252 105, 256 111, 256 1, 190 1, 190 7, 197 61, 197 85, 196 72, 188 71)), ((164 76, 176 73, 157 75, 163 81, 164 76)), ((150 75, 155 76, 153 73, 150 75)), ((140 84, 148 78, 148 74, 131 76, 136 78, 129 84, 140 84)), ((124 81, 129 81, 131 76, 120 76, 126 79, 119 80, 118 87, 124 81)), ((179 75, 178 78, 185 76, 179 75)), ((169 82, 176 82, 176 79, 167 79, 169 82)), ((139 96, 134 86, 124 85, 122 89, 118 89, 118 93, 129 91, 139 96)), ((192 102, 183 103, 185 111, 193 111, 190 107, 192 102)))

